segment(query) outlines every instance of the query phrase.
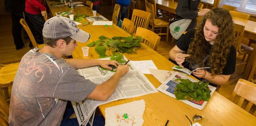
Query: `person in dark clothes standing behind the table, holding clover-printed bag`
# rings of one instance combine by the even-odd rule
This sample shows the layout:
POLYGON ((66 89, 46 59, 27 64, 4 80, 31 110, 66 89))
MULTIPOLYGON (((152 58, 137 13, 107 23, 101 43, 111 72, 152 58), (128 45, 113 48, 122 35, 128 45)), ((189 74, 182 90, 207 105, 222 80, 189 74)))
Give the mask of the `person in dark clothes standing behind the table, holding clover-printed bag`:
POLYGON ((179 0, 176 8, 176 19, 192 19, 190 25, 186 29, 189 31, 196 27, 197 16, 204 16, 210 9, 202 9, 198 11, 200 0, 179 0))

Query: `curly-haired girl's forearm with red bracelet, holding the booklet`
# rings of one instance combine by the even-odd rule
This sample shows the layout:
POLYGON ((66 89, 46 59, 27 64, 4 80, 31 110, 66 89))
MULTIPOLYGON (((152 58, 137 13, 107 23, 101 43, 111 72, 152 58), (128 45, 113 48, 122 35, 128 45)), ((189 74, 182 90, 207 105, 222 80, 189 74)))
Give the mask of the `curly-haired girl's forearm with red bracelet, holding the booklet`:
POLYGON ((193 72, 193 75, 198 78, 204 78, 208 82, 216 84, 216 85, 224 85, 231 76, 231 75, 219 74, 219 75, 215 76, 214 78, 212 78, 212 73, 207 72, 206 70, 196 70, 195 72, 193 72))

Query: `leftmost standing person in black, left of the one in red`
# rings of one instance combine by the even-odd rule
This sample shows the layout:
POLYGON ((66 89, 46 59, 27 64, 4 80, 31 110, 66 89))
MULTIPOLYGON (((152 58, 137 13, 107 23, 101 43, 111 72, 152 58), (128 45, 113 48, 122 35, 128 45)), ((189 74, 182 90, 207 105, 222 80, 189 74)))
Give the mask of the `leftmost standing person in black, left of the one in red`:
POLYGON ((25 0, 5 0, 5 11, 12 14, 12 36, 16 50, 26 47, 21 38, 22 25, 20 19, 25 8, 25 0))

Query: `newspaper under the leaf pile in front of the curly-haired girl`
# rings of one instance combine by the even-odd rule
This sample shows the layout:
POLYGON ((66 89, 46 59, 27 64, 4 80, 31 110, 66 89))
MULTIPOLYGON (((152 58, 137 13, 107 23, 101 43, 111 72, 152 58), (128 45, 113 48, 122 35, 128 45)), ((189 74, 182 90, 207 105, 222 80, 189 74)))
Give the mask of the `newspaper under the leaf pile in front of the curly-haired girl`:
MULTIPOLYGON (((165 93, 166 95, 169 95, 170 97, 176 98, 174 95, 174 89, 176 88, 176 85, 179 83, 178 81, 175 81, 175 79, 182 78, 182 79, 189 79, 192 82, 198 82, 195 79, 192 79, 180 72, 174 72, 170 78, 168 78, 162 85, 160 85, 157 90, 161 91, 162 93, 165 93)), ((216 87, 213 87, 211 85, 208 85, 209 89, 211 90, 210 95, 214 93, 216 87)), ((202 110, 204 106, 206 105, 207 101, 192 101, 192 100, 180 100, 196 109, 202 110)))

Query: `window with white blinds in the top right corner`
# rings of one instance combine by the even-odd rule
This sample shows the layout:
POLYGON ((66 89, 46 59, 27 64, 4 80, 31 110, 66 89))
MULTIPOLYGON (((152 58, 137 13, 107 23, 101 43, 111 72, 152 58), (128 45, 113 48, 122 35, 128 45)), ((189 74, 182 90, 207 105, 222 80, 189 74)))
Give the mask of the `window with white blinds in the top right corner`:
POLYGON ((256 0, 220 0, 219 7, 224 4, 235 6, 240 12, 256 16, 256 0))

